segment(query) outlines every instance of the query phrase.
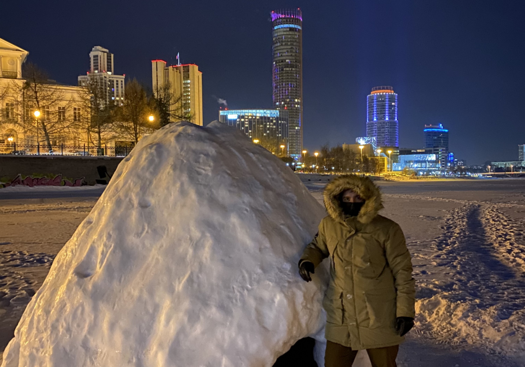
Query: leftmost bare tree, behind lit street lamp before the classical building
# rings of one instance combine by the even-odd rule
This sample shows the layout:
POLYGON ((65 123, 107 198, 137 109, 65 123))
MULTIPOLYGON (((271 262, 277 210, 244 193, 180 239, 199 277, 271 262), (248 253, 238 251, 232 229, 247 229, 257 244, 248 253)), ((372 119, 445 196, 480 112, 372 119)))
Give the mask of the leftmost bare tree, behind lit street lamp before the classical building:
MULTIPOLYGON (((53 84, 47 74, 33 63, 25 63, 23 66, 25 83, 18 95, 19 115, 17 124, 22 126, 26 132, 37 136, 43 135, 45 144, 51 150, 51 139, 65 139, 71 136, 72 131, 79 121, 67 111, 74 102, 67 98, 64 89, 53 84), (35 118, 34 111, 38 110, 40 116, 35 118)), ((13 84, 13 88, 19 88, 13 84)))

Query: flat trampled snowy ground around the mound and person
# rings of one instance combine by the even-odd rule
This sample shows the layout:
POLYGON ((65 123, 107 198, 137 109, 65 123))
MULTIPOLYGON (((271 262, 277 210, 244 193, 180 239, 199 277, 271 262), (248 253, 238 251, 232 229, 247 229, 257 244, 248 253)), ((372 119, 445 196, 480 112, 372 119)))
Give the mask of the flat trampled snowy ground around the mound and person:
MULTIPOLYGON (((302 180, 321 200, 326 182, 302 180)), ((417 325, 398 365, 525 365, 525 180, 379 184, 418 287, 417 325)), ((0 190, 0 361, 56 253, 102 192, 13 189, 0 190)))

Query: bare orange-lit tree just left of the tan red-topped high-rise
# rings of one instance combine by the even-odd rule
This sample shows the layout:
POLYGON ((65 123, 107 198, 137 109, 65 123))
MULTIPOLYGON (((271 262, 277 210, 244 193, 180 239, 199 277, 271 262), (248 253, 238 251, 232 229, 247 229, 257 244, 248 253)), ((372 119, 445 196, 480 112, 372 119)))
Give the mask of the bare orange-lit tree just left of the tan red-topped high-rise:
POLYGON ((120 134, 130 137, 136 144, 144 135, 158 129, 159 121, 148 119, 155 111, 155 106, 137 79, 126 83, 125 96, 124 104, 116 108, 117 122, 113 125, 120 134))

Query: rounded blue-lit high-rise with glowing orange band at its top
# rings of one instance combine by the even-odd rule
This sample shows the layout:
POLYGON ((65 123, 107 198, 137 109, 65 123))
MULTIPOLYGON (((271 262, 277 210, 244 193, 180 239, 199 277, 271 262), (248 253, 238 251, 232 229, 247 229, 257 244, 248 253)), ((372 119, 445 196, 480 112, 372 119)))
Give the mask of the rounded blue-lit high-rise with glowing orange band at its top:
POLYGON ((366 97, 366 136, 378 147, 399 146, 397 94, 391 86, 374 87, 366 97))

